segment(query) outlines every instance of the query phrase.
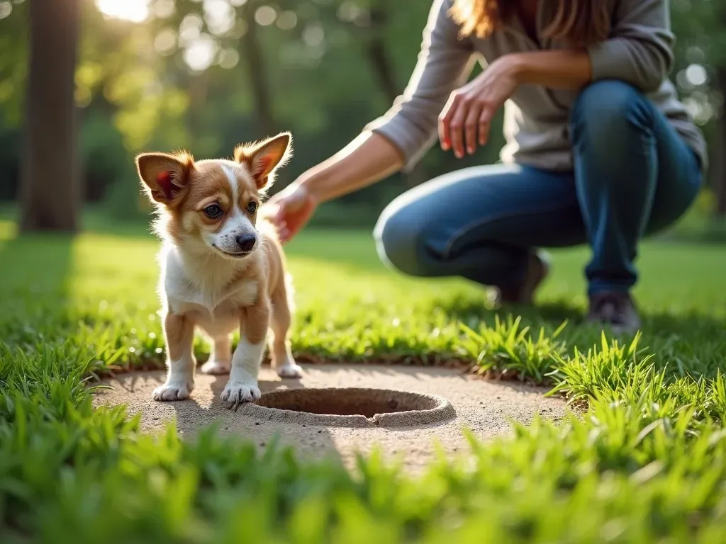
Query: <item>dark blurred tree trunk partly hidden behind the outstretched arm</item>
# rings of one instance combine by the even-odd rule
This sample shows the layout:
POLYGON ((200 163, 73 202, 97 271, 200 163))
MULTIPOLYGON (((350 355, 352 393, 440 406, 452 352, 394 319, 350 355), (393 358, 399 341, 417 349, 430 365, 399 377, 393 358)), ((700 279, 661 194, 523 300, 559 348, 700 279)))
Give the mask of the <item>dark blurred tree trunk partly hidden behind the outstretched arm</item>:
MULTIPOLYGON (((370 8, 370 31, 367 40, 366 52, 368 62, 373 70, 378 85, 386 95, 388 102, 393 101, 399 96, 399 86, 396 84, 395 70, 388 51, 386 43, 383 41, 383 32, 388 23, 388 12, 386 11, 386 3, 376 2, 370 8)), ((415 187, 425 181, 426 175, 423 165, 419 162, 408 174, 404 176, 406 185, 415 187)))

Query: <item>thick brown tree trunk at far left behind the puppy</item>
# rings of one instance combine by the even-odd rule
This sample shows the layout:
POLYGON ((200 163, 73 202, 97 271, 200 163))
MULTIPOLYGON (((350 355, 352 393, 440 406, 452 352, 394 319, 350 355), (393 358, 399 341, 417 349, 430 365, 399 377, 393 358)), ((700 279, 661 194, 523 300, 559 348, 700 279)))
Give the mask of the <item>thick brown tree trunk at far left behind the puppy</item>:
POLYGON ((29 8, 20 228, 73 232, 81 207, 73 96, 79 1, 35 0, 29 8))

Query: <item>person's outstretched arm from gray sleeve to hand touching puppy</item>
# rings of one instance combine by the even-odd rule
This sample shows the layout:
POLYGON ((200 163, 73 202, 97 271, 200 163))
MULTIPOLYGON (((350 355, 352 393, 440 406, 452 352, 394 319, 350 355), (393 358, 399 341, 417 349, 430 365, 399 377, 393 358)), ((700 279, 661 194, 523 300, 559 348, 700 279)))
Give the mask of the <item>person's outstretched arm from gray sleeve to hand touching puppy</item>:
POLYGON ((354 141, 311 168, 264 205, 287 242, 322 202, 410 170, 436 140, 439 113, 465 83, 472 47, 449 16, 451 0, 433 2, 418 62, 404 94, 354 141))

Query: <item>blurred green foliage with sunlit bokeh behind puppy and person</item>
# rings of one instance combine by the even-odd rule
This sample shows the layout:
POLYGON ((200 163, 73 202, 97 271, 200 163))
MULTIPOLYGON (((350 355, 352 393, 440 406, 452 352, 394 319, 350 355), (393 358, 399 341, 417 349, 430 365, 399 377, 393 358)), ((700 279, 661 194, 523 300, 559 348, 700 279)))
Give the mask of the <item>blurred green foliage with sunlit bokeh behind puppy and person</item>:
MULTIPOLYGON (((85 195, 107 200, 118 216, 139 211, 133 157, 142 150, 185 147, 197 157, 227 156, 239 141, 290 130, 295 160, 278 189, 338 151, 403 90, 431 6, 418 0, 82 2, 76 96, 85 195)), ((724 4, 672 2, 679 38, 672 77, 709 139, 722 110, 724 4)), ((27 12, 28 0, 0 0, 0 199, 17 194, 27 12)), ((341 204, 375 215, 409 184, 495 162, 502 136, 493 132, 497 137, 474 157, 458 162, 432 149, 418 178, 394 176, 341 204)))

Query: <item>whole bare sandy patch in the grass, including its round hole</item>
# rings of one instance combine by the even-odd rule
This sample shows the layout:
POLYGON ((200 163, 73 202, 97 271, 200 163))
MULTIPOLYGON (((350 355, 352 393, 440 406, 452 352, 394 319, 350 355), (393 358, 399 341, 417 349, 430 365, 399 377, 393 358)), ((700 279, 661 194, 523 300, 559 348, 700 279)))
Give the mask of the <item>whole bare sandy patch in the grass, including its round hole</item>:
POLYGON ((111 389, 99 390, 94 403, 126 404, 130 416, 141 414, 149 432, 164 430, 172 420, 184 435, 216 424, 221 434, 259 447, 277 434, 300 456, 333 456, 348 466, 356 452, 378 447, 409 469, 431 461, 437 448, 465 453, 464 429, 487 440, 510 433, 512 421, 529 424, 536 414, 557 420, 566 413, 563 400, 544 397, 542 388, 487 382, 455 368, 336 364, 304 370, 302 379, 282 380, 263 368, 262 399, 237 411, 219 400, 227 376, 197 374, 190 400, 155 402, 152 390, 165 377, 160 371, 106 379, 111 389))

